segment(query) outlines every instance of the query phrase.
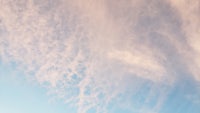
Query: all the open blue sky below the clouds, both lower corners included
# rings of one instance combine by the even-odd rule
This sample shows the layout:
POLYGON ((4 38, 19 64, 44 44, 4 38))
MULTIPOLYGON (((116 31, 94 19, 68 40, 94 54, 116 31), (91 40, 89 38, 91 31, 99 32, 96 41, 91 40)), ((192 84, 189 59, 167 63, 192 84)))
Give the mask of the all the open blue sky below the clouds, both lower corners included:
MULTIPOLYGON (((74 107, 69 107, 62 100, 56 99, 53 95, 47 95, 44 87, 27 81, 24 73, 17 69, 14 63, 0 64, 0 112, 2 113, 76 113, 74 107), (54 97, 54 99, 52 99, 54 97)), ((197 85, 199 86, 199 85, 197 85)), ((142 106, 148 95, 148 84, 137 95, 133 96, 130 101, 138 101, 137 106, 142 106), (145 88, 146 87, 146 88, 145 88)), ((152 97, 148 103, 147 110, 151 109, 155 104, 156 97, 152 97)), ((123 102, 123 101, 122 101, 123 102)), ((114 104, 114 103, 113 103, 114 104)), ((199 92, 193 80, 182 80, 171 88, 163 103, 160 113, 198 113, 199 108, 199 92), (186 98, 187 95, 196 96, 195 100, 186 98)), ((137 108, 137 107, 134 107, 137 108)), ((112 104, 108 106, 110 113, 137 113, 129 109, 114 107, 112 104)), ((88 113, 94 113, 91 109, 88 113)))

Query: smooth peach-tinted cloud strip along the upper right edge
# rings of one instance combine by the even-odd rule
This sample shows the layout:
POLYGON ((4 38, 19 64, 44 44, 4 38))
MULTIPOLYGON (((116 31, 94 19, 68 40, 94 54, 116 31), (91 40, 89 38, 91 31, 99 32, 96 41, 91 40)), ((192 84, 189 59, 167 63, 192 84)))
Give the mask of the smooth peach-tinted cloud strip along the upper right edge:
POLYGON ((200 1, 170 0, 170 2, 181 16, 182 30, 191 47, 190 51, 186 51, 190 71, 194 78, 200 81, 200 1))

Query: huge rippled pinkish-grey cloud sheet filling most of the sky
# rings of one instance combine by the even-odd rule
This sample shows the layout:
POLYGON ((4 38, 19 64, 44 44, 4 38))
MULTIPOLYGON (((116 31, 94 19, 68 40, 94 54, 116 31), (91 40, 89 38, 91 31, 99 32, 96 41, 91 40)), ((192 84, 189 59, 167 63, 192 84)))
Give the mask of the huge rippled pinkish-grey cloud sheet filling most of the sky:
POLYGON ((199 79, 199 15, 184 15, 186 6, 156 0, 51 2, 0 1, 0 57, 18 62, 79 112, 93 107, 106 112, 110 102, 129 100, 149 83, 156 87, 153 108, 159 111, 169 91, 160 89, 170 87, 179 71, 199 79), (186 36, 176 29, 181 22, 186 36), (187 51, 190 47, 193 52, 187 51), (194 58, 195 65, 187 58, 194 58))

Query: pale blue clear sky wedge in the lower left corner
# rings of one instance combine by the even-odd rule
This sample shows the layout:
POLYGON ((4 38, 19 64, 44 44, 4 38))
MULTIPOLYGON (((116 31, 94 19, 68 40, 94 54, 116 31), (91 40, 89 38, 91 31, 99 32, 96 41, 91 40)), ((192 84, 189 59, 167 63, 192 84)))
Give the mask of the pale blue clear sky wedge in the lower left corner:
POLYGON ((50 99, 46 89, 26 81, 15 66, 1 62, 0 67, 1 113, 76 113, 64 102, 50 99))

